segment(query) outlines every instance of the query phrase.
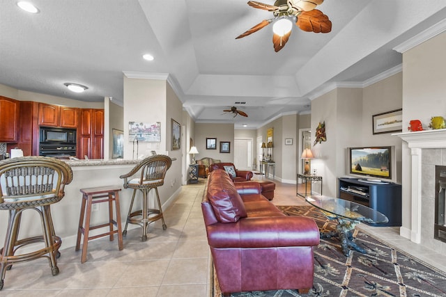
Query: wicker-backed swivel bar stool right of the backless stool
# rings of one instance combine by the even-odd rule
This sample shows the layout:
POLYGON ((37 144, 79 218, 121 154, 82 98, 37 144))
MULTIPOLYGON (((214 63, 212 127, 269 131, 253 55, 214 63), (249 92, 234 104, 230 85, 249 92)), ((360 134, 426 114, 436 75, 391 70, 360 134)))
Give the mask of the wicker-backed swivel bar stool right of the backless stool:
POLYGON ((172 159, 169 156, 158 154, 155 156, 149 156, 134 166, 130 172, 125 175, 121 175, 120 178, 124 179, 124 188, 133 188, 132 202, 130 202, 130 209, 128 211, 127 221, 123 231, 123 236, 127 234, 128 224, 136 224, 142 227, 141 240, 147 240, 147 227, 155 220, 162 220, 162 229, 166 230, 167 225, 164 223, 164 217, 162 215, 162 208, 160 202, 160 195, 158 194, 158 186, 164 184, 164 176, 167 170, 172 164, 172 159), (132 178, 139 172, 139 177, 132 178), (148 193, 151 189, 155 189, 157 209, 148 208, 148 193), (137 191, 142 193, 142 205, 141 209, 132 211, 134 198, 137 191))

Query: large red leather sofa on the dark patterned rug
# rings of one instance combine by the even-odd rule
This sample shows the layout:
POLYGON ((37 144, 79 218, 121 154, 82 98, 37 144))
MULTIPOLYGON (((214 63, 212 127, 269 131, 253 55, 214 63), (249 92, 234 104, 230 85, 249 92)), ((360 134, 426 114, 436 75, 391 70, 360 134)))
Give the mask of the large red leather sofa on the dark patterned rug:
POLYGON ((313 247, 319 243, 314 220, 285 216, 261 195, 258 182, 234 184, 220 169, 208 176, 201 209, 224 296, 312 288, 313 247))

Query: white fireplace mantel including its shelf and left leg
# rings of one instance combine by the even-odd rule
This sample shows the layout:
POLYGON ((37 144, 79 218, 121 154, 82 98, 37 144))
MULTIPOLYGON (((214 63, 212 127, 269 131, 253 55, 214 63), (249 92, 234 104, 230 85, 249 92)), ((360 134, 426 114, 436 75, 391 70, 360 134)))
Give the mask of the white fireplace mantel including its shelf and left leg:
POLYGON ((400 234, 421 243, 422 226, 422 149, 446 148, 446 129, 392 134, 408 143, 411 155, 411 227, 401 227, 400 234))

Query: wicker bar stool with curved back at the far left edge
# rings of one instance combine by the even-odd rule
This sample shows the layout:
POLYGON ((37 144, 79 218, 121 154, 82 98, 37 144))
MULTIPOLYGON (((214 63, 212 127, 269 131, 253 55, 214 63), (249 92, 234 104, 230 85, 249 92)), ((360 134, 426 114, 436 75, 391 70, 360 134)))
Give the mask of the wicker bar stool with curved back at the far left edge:
POLYGON ((56 257, 60 255, 62 240, 54 232, 50 206, 63 198, 63 189, 71 181, 70 166, 47 156, 0 161, 0 210, 9 211, 5 244, 0 250, 0 289, 3 289, 6 270, 16 263, 46 257, 52 275, 59 274, 56 257), (43 234, 19 239, 20 220, 26 209, 38 212, 43 234), (38 245, 32 252, 17 253, 23 246, 38 242, 45 243, 45 247, 38 245))

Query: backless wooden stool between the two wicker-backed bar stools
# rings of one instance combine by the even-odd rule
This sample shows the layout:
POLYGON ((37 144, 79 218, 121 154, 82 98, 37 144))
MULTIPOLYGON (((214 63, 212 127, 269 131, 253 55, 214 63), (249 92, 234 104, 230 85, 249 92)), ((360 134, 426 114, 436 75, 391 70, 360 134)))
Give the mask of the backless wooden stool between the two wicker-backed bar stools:
POLYGON ((87 247, 89 240, 91 239, 109 236, 110 241, 113 241, 114 234, 117 234, 118 248, 119 250, 123 250, 123 232, 121 228, 121 209, 119 204, 119 191, 121 191, 121 188, 116 188, 114 186, 102 186, 97 188, 82 188, 80 191, 82 193, 82 204, 75 250, 77 251, 80 249, 81 236, 84 234, 84 239, 82 241, 81 263, 86 262, 87 247), (92 205, 102 202, 108 202, 109 221, 104 224, 91 226, 90 221, 92 205), (115 204, 116 220, 113 219, 113 202, 115 204), (116 226, 116 230, 114 230, 114 226, 116 226), (90 230, 95 230, 102 227, 109 227, 109 231, 95 236, 89 236, 90 230))

